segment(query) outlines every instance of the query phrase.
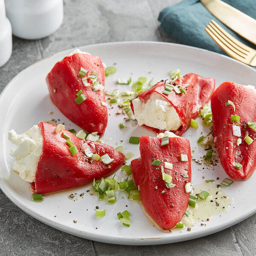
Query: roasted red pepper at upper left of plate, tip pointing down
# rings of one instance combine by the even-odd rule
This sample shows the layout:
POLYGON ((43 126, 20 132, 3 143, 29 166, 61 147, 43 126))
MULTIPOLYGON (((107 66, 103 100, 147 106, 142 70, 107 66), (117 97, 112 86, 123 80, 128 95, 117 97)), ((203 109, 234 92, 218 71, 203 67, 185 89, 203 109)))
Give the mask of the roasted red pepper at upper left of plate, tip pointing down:
POLYGON ((99 84, 105 84, 105 70, 98 56, 76 53, 65 57, 52 68, 46 77, 49 96, 56 107, 72 122, 79 125, 86 132, 98 132, 102 135, 108 122, 107 107, 104 90, 93 90, 93 80, 86 79, 93 72, 98 73, 96 80, 99 84), (84 86, 82 77, 78 76, 80 69, 88 72, 84 75, 84 86), (86 99, 77 104, 75 99, 77 93, 82 91, 86 99))

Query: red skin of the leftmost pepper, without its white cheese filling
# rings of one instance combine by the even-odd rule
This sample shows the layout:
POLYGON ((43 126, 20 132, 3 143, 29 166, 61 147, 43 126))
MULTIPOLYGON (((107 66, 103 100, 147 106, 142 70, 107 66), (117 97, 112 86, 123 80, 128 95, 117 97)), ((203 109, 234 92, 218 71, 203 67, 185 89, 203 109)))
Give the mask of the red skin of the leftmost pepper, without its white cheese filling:
POLYGON ((83 185, 110 174, 124 162, 124 156, 110 145, 82 140, 69 131, 70 141, 76 145, 78 153, 72 155, 62 131, 55 134, 55 126, 46 122, 38 124, 43 136, 43 150, 35 174, 35 182, 30 183, 35 193, 49 193, 83 185), (113 162, 106 165, 101 160, 92 161, 85 150, 100 156, 108 154, 113 162))

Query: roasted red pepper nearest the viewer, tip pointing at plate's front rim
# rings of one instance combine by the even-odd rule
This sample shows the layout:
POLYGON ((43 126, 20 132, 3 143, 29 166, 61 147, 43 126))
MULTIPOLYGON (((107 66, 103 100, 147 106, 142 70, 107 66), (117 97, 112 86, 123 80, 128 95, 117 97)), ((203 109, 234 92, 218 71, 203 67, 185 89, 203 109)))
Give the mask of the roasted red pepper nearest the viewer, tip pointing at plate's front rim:
POLYGON ((185 184, 191 181, 191 151, 189 141, 181 137, 170 137, 169 144, 161 146, 161 139, 140 137, 140 158, 131 161, 132 173, 146 212, 163 229, 169 230, 181 220, 188 207, 189 192, 185 184), (180 154, 186 154, 188 161, 181 161, 180 154), (159 166, 152 165, 160 160, 159 166), (172 176, 168 188, 163 180, 161 166, 172 163, 173 169, 164 168, 172 176), (183 177, 184 176, 184 177, 183 177))

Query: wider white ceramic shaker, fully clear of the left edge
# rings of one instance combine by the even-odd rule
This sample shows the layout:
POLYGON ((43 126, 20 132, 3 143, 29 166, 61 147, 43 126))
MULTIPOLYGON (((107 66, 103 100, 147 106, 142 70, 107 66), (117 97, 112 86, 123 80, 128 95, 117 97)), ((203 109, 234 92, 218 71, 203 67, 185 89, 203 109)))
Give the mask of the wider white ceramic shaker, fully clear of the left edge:
POLYGON ((5 0, 12 34, 39 39, 54 33, 63 21, 63 0, 5 0))

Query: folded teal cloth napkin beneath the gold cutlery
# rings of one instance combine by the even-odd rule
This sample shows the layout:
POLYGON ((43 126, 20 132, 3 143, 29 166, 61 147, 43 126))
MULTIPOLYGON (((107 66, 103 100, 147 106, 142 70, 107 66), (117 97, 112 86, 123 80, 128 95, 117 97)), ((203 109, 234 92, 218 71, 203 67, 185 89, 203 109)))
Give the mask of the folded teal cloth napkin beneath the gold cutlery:
MULTIPOLYGON (((223 0, 225 3, 239 9, 256 19, 255 0, 223 0)), ((200 0, 184 0, 176 5, 168 6, 160 12, 158 17, 160 27, 181 44, 191 45, 210 51, 226 54, 204 30, 210 20, 215 20, 231 35, 244 44, 255 48, 247 40, 241 38, 217 18, 215 18, 200 2, 200 0)), ((245 29, 246 29, 246 25, 245 29)))

